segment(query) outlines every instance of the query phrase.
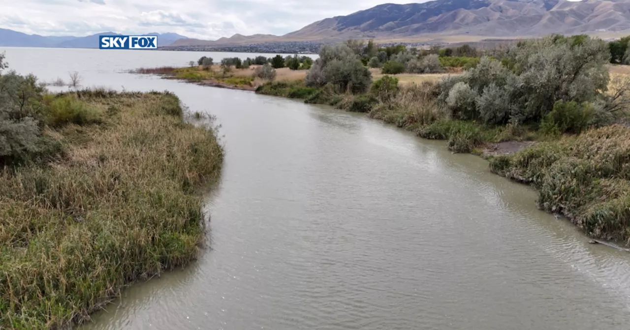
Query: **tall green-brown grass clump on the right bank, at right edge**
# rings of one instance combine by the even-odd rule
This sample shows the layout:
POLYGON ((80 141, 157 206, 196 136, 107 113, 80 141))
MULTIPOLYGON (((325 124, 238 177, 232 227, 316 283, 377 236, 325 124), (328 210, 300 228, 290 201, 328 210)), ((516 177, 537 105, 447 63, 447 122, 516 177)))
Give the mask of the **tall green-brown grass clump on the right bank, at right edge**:
POLYGON ((491 170, 534 185, 541 209, 595 238, 630 244, 630 128, 613 125, 491 158, 491 170))

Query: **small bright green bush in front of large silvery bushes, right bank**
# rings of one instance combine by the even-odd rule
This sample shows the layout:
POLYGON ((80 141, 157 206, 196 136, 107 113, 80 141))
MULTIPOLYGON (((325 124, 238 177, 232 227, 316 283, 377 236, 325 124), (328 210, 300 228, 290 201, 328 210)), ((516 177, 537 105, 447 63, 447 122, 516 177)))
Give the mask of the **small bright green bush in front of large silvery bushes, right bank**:
POLYGON ((541 129, 549 135, 561 133, 581 133, 587 129, 595 109, 591 104, 578 102, 557 101, 551 113, 542 119, 541 129))

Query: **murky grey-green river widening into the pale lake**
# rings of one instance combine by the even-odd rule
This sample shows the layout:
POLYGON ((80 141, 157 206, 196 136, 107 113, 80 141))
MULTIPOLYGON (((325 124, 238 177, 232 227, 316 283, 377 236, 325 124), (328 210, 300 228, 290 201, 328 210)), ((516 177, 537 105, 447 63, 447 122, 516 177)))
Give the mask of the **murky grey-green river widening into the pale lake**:
POLYGON ((125 289, 81 329, 630 324, 628 253, 588 245, 536 209, 534 190, 443 141, 329 107, 122 73, 207 53, 3 50, 11 68, 43 80, 77 70, 86 85, 173 91, 222 125, 208 248, 125 289))

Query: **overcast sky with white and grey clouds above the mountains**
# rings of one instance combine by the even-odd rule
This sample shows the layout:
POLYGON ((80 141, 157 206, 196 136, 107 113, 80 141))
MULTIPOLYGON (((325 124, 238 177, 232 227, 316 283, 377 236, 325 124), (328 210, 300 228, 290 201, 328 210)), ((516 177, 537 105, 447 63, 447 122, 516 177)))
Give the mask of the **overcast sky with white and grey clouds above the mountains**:
MULTIPOLYGON (((175 32, 215 40, 283 35, 319 19, 406 0, 0 0, 0 28, 38 35, 175 32)), ((420 0, 418 2, 425 2, 420 0)))

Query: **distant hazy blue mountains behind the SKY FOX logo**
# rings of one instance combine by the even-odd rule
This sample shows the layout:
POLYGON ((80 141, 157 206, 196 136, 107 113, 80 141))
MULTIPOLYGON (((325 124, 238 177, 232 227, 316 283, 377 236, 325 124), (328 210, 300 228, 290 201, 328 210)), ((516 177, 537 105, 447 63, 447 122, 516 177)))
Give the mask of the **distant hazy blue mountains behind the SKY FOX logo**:
MULTIPOLYGON (((89 36, 40 36, 27 35, 18 31, 0 29, 0 47, 57 47, 57 48, 98 48, 98 36, 120 35, 115 32, 101 32, 89 36)), ((186 39, 177 33, 137 33, 136 35, 156 35, 157 45, 168 46, 171 43, 186 39)))

